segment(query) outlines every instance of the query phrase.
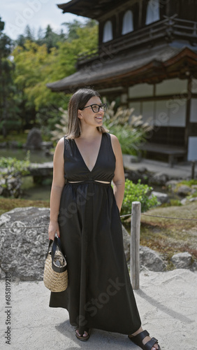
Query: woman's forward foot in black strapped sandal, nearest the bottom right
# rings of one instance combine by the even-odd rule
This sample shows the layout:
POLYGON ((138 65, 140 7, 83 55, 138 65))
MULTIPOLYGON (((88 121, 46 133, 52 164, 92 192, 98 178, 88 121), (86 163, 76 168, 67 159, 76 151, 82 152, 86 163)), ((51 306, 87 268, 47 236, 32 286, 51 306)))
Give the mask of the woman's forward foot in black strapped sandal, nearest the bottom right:
POLYGON ((143 330, 143 328, 141 327, 137 330, 137 332, 133 333, 132 335, 129 335, 129 339, 134 344, 140 346, 141 349, 161 350, 157 339, 149 337, 149 333, 147 332, 147 330, 143 330))

